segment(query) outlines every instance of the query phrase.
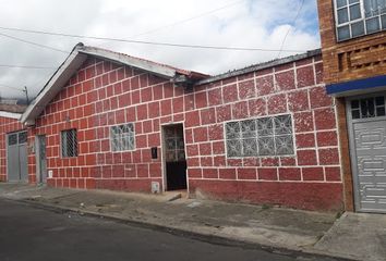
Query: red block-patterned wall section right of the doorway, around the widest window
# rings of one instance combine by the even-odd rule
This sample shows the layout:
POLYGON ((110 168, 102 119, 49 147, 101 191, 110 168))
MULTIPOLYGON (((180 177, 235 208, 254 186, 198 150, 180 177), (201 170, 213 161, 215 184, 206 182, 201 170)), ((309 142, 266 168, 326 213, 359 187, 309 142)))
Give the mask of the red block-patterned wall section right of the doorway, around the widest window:
POLYGON ((341 208, 336 108, 322 76, 316 57, 196 88, 196 110, 185 119, 191 189, 228 200, 341 208), (224 122, 281 113, 293 116, 294 157, 227 159, 224 122))

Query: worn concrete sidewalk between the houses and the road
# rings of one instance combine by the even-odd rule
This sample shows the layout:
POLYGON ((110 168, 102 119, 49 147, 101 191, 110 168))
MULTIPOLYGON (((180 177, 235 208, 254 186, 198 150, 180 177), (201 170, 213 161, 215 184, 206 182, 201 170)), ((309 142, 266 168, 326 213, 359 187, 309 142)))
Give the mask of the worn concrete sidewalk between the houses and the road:
POLYGON ((141 195, 21 184, 0 184, 0 197, 280 251, 386 260, 384 215, 343 214, 336 222, 336 213, 184 199, 178 194, 141 195))

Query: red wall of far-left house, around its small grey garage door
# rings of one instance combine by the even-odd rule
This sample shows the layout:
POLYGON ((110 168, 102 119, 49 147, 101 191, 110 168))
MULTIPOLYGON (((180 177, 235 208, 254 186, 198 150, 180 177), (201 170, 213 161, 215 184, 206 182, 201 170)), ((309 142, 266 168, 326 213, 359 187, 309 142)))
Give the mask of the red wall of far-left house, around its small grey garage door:
POLYGON ((7 182, 7 134, 21 129, 17 120, 0 116, 0 182, 7 182))

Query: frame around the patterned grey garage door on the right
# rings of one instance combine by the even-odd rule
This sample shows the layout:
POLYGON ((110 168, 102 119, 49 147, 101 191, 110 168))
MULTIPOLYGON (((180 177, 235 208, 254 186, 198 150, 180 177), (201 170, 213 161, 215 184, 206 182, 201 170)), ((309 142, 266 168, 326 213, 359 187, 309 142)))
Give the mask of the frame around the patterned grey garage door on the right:
MULTIPOLYGON (((353 125, 355 123, 367 123, 367 122, 378 122, 378 121, 386 121, 386 116, 377 116, 377 117, 367 117, 367 119, 359 119, 359 120, 353 120, 352 114, 351 114, 351 101, 352 100, 358 100, 358 99, 363 99, 363 98, 372 98, 383 95, 385 96, 386 100, 386 92, 385 91, 378 91, 374 94, 366 94, 366 95, 357 95, 357 96, 350 96, 346 97, 346 123, 347 123, 347 129, 348 129, 348 136, 349 136, 349 151, 350 151, 350 162, 351 162, 351 173, 352 173, 352 187, 353 187, 353 198, 354 198, 354 210, 355 212, 363 212, 363 213, 386 213, 385 211, 379 211, 379 210, 363 210, 361 209, 361 203, 360 203, 360 189, 359 189, 359 172, 358 172, 358 160, 357 160, 357 146, 355 146, 355 137, 354 137, 354 127, 353 125)), ((385 101, 386 102, 386 101, 385 101)), ((386 105, 386 103, 385 103, 386 105)))

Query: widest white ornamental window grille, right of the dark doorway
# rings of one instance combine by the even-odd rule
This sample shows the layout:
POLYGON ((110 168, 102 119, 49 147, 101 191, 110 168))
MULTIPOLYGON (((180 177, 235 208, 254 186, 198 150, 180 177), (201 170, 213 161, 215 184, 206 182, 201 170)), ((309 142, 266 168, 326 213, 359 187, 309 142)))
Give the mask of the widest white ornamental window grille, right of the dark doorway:
POLYGON ((291 115, 226 123, 228 158, 293 154, 291 115))

